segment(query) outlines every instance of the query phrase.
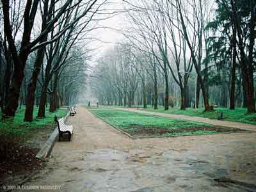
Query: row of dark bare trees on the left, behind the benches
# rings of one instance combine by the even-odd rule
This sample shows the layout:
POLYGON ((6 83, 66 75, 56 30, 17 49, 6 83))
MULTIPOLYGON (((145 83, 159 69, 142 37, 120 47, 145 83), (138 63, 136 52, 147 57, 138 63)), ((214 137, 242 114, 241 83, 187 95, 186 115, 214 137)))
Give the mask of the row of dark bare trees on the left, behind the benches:
MULTIPOLYGON (((0 106, 13 117, 26 104, 24 121, 72 102, 84 86, 90 50, 84 48, 93 18, 106 1, 1 1, 0 106), (3 75, 2 75, 3 74, 3 75), (68 91, 70 90, 70 91, 68 91), (72 91, 71 91, 72 90, 72 91)), ((99 18, 98 18, 99 19, 99 18)))

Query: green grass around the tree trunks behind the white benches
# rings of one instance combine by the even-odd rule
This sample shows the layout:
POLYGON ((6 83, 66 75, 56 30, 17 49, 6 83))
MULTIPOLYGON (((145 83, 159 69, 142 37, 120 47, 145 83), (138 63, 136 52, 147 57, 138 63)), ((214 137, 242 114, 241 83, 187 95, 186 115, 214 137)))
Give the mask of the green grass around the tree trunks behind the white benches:
POLYGON ((45 111, 45 118, 35 118, 38 112, 38 108, 34 109, 34 120, 33 122, 24 122, 24 113, 25 113, 25 106, 22 106, 15 115, 15 118, 10 121, 6 120, 5 122, 0 121, 0 135, 1 134, 25 134, 30 131, 33 131, 37 128, 43 128, 46 125, 54 124, 54 116, 57 115, 58 118, 61 116, 67 115, 67 110, 59 109, 56 113, 50 113, 49 109, 47 108, 45 111))

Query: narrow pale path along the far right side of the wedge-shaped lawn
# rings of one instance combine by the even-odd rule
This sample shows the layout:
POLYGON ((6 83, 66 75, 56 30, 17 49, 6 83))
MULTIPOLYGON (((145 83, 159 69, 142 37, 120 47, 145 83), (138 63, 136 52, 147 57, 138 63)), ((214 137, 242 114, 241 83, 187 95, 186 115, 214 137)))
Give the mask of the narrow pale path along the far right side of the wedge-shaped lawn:
POLYGON ((214 120, 214 119, 204 118, 200 116, 176 115, 176 114, 170 114, 170 113, 144 111, 141 109, 134 109, 134 108, 114 108, 114 109, 124 110, 124 111, 133 111, 136 113, 143 113, 148 115, 164 116, 168 118, 179 118, 182 120, 191 120, 194 122, 201 122, 201 123, 212 124, 212 125, 223 126, 223 127, 232 127, 232 128, 256 131, 256 125, 252 125, 252 124, 243 124, 239 122, 230 122, 230 121, 224 121, 224 120, 214 120))

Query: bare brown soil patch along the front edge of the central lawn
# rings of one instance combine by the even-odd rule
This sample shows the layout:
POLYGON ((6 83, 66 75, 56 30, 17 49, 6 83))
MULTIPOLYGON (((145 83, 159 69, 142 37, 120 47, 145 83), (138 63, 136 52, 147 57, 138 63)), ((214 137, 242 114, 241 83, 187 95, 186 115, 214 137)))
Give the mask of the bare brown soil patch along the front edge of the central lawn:
POLYGON ((122 131, 125 131, 132 136, 172 136, 172 135, 187 135, 187 134, 213 134, 213 133, 223 133, 223 132, 246 132, 244 129, 236 129, 230 127, 205 127, 205 126, 195 126, 189 128, 179 128, 172 129, 166 127, 154 127, 154 126, 145 126, 132 124, 127 128, 122 128, 122 131))

